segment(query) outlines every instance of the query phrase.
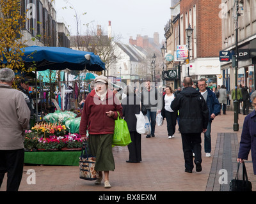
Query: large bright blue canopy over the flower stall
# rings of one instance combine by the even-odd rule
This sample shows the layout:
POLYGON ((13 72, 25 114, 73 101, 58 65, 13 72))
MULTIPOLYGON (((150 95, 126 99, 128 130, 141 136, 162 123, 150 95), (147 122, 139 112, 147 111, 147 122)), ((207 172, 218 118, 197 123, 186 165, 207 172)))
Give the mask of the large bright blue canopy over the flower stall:
POLYGON ((93 52, 72 50, 66 47, 40 47, 31 46, 24 48, 22 57, 25 66, 36 66, 36 71, 51 70, 83 70, 102 71, 105 63, 93 52))

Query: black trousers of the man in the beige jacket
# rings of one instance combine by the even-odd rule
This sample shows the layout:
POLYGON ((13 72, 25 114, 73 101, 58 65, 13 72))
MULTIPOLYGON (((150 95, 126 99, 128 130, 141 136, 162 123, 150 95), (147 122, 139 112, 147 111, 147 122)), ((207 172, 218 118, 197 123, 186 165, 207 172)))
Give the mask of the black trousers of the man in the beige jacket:
POLYGON ((18 191, 24 166, 24 149, 0 150, 0 187, 7 172, 6 191, 18 191))

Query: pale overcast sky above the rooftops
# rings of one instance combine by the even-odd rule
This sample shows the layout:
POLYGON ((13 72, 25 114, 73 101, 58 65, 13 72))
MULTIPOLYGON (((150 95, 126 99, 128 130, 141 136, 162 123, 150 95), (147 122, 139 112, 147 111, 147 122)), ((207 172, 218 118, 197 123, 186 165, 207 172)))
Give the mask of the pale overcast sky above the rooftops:
POLYGON ((81 20, 82 32, 90 24, 96 27, 102 25, 108 31, 108 21, 111 21, 112 34, 122 35, 122 41, 129 43, 129 37, 136 39, 137 34, 153 38, 159 33, 160 43, 164 40, 164 25, 170 19, 171 0, 55 0, 57 20, 64 19, 70 25, 70 33, 76 34, 74 7, 81 20), (63 10, 63 7, 67 9, 63 10), (82 13, 86 12, 86 15, 82 13))

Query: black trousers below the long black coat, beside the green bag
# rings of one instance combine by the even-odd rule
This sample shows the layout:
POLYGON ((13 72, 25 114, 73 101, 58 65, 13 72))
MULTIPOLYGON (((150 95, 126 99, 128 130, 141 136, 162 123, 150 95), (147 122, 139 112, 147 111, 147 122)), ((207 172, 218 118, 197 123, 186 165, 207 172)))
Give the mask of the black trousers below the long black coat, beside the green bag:
POLYGON ((132 143, 128 145, 129 161, 138 163, 141 161, 141 134, 130 132, 132 143))

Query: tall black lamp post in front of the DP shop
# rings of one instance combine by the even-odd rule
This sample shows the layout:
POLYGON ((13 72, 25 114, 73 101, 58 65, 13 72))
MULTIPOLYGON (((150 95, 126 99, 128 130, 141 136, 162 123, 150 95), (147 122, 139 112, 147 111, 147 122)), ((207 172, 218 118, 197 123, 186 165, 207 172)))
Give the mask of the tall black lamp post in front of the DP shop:
POLYGON ((235 74, 235 100, 234 100, 234 124, 233 130, 239 131, 239 124, 238 124, 238 113, 239 113, 239 101, 237 99, 237 70, 238 70, 238 17, 239 17, 239 4, 238 0, 236 0, 236 74, 235 74))

